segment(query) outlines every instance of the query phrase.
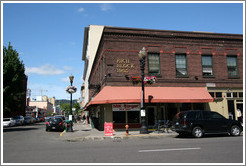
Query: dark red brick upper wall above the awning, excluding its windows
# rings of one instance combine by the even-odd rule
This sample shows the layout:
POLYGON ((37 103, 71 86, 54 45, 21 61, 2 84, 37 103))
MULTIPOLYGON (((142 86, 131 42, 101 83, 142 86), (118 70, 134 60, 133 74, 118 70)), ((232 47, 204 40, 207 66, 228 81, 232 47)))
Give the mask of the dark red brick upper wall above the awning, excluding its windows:
MULTIPOLYGON (((242 35, 105 28, 90 76, 90 97, 105 85, 133 86, 127 76, 140 76, 138 51, 143 46, 149 52, 160 53, 161 76, 151 86, 204 87, 206 83, 216 83, 216 87, 242 88, 242 44, 242 35), (187 78, 176 77, 175 53, 187 55, 187 78), (202 76, 202 54, 213 55, 213 78, 202 76), (226 55, 237 55, 239 78, 228 79, 226 55), (122 59, 125 63, 120 62, 122 59)), ((148 75, 147 58, 145 75, 148 75)))

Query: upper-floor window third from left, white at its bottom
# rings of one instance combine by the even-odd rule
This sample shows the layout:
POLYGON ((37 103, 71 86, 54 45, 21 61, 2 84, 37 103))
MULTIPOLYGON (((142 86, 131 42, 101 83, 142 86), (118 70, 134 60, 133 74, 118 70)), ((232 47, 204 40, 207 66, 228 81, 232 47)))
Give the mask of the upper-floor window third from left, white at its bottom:
POLYGON ((204 77, 213 76, 213 58, 211 55, 202 55, 202 75, 204 77))

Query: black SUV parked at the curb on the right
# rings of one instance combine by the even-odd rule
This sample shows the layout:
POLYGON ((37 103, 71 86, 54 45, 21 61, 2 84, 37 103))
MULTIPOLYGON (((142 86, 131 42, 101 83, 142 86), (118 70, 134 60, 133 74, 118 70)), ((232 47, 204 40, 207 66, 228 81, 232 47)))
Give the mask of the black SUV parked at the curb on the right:
POLYGON ((175 115, 172 130, 179 135, 192 134, 196 138, 201 138, 204 134, 217 133, 239 136, 243 127, 239 121, 226 119, 217 112, 190 110, 175 115))

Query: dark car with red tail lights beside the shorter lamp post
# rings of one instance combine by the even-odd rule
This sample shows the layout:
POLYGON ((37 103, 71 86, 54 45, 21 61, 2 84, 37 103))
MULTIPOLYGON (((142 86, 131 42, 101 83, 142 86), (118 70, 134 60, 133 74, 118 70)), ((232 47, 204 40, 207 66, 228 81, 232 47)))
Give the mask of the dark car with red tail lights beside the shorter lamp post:
POLYGON ((64 120, 61 117, 49 118, 46 122, 46 131, 58 130, 63 131, 65 129, 64 120))

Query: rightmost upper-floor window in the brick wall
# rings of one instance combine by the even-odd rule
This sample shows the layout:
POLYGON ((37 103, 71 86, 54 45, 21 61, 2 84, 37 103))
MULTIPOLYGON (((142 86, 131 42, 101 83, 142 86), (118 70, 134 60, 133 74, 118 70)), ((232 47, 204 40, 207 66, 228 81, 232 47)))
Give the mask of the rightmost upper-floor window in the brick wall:
POLYGON ((227 56, 228 77, 238 77, 238 66, 236 56, 227 56))

